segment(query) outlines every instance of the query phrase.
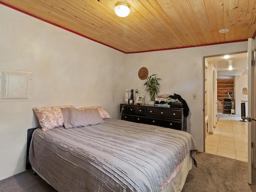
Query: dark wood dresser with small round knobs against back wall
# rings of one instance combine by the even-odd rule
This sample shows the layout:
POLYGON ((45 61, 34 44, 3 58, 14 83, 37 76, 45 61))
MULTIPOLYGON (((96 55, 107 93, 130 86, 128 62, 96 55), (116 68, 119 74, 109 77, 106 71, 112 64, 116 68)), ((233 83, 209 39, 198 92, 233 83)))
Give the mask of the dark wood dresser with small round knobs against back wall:
POLYGON ((120 104, 122 120, 186 131, 185 108, 120 104))

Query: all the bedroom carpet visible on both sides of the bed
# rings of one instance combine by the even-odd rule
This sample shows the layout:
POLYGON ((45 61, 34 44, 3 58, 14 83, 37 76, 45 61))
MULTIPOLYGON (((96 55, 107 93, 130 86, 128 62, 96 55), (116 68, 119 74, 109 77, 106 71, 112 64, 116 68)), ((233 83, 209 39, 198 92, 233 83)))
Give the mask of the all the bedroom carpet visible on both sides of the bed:
MULTIPOLYGON (((247 182, 247 163, 207 153, 197 154, 198 167, 188 173, 182 192, 256 192, 247 182)), ((97 190, 96 190, 97 191, 97 190)), ((0 181, 0 192, 57 192, 32 170, 0 181)))

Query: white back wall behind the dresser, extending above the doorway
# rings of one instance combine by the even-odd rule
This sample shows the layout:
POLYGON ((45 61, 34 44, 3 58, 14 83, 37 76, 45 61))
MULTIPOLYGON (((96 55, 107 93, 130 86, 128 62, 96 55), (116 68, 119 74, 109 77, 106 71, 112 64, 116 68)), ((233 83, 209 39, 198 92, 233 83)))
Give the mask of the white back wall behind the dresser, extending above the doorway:
MULTIPOLYGON (((144 80, 138 78, 141 67, 149 75, 156 73, 160 81, 160 94, 179 94, 186 100, 190 112, 187 132, 194 137, 200 152, 204 150, 204 57, 247 51, 248 42, 236 42, 195 48, 127 54, 126 88, 144 92, 144 80), (192 94, 197 95, 196 100, 192 94)), ((148 97, 146 103, 148 103, 148 97)))

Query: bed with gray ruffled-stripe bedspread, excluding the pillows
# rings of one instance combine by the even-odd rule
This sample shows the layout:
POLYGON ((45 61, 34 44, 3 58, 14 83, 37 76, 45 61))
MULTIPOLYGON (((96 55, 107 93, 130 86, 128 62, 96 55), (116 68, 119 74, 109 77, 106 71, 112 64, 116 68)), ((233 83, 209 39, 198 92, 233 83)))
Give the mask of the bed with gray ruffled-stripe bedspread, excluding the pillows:
POLYGON ((197 146, 184 131, 105 118, 33 132, 29 161, 59 192, 181 191, 197 146))

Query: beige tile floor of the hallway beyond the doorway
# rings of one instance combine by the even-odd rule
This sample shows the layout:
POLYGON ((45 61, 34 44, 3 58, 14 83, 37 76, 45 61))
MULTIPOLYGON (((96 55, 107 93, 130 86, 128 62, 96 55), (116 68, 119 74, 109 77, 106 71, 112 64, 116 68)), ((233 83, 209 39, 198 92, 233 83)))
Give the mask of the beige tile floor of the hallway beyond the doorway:
POLYGON ((239 116, 218 118, 213 134, 206 137, 206 153, 248 162, 247 122, 239 116))

